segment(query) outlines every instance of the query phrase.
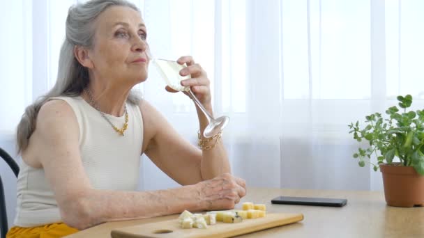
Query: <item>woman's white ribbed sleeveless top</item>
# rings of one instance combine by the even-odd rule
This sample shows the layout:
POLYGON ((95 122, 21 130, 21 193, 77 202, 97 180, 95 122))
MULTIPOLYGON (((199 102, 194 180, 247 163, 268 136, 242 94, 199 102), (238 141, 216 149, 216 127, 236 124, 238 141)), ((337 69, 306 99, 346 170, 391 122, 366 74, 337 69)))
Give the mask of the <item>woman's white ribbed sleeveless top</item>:
MULTIPOLYGON (((128 129, 119 135, 82 97, 52 97, 73 109, 79 125, 82 165, 94 189, 135 191, 139 182, 143 143, 143 120, 138 105, 126 104, 128 129)), ((106 115, 122 127, 125 117, 106 115)), ((33 227, 62 221, 54 193, 43 168, 33 168, 22 160, 17 178, 15 225, 33 227)))

